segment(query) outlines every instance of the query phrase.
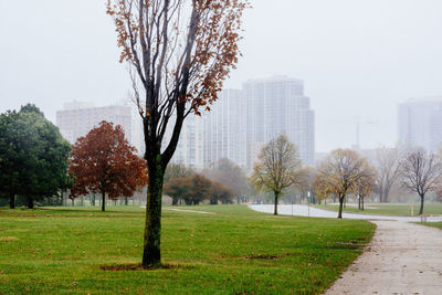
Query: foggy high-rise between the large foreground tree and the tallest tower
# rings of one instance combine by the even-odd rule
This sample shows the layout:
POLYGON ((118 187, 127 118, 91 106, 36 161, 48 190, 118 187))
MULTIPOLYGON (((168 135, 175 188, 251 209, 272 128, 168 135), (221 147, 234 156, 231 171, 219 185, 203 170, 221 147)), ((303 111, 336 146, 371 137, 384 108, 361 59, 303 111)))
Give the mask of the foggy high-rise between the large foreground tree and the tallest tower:
POLYGON ((204 167, 228 158, 246 165, 245 97, 240 89, 224 89, 211 112, 203 113, 204 167))

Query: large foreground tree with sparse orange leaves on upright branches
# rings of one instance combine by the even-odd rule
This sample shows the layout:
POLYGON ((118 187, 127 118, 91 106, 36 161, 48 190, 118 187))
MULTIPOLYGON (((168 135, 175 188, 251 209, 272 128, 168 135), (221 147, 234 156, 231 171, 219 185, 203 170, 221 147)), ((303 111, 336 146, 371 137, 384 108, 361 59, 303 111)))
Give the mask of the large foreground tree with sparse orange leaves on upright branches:
POLYGON ((161 262, 166 167, 190 114, 209 110, 240 55, 248 0, 108 0, 120 62, 129 64, 149 169, 143 266, 161 262), (170 130, 170 136, 166 136, 170 130))

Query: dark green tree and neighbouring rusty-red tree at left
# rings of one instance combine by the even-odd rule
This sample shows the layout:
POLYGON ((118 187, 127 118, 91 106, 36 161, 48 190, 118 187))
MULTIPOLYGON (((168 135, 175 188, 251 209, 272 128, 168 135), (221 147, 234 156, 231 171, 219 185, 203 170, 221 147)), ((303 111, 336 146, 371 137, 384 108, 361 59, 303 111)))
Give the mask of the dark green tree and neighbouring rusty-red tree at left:
POLYGON ((71 199, 99 193, 104 211, 106 196, 131 197, 147 179, 146 162, 120 126, 102 122, 71 147, 35 105, 0 114, 0 198, 11 209, 18 197, 32 209, 70 189, 71 199))

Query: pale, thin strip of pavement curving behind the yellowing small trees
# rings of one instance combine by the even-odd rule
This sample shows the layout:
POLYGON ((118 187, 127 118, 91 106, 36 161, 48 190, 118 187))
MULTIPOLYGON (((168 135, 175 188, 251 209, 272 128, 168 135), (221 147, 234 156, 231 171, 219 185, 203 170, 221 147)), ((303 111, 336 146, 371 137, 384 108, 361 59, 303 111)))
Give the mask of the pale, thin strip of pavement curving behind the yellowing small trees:
MULTIPOLYGON (((273 213, 273 204, 251 204, 249 206, 252 210, 265 213, 273 213)), ((280 204, 277 207, 277 212, 282 215, 298 215, 298 217, 316 217, 316 218, 337 218, 338 213, 334 211, 327 211, 317 209, 314 207, 307 207, 305 204, 280 204)), ((418 222, 421 221, 419 217, 388 217, 388 215, 369 215, 369 214, 358 214, 358 213, 343 213, 345 219, 366 219, 366 220, 397 220, 407 222, 418 222)), ((428 218, 428 222, 442 221, 442 217, 428 218)), ((442 295, 442 292, 441 292, 442 295)))

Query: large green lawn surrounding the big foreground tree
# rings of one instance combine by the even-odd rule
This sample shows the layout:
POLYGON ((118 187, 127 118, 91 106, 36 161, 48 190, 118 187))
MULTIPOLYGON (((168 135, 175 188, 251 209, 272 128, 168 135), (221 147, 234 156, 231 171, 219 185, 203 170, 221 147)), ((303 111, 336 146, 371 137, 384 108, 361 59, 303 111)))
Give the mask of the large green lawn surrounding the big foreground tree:
POLYGON ((320 293, 371 239, 366 221, 273 217, 245 206, 162 214, 155 271, 141 259, 144 209, 0 209, 0 294, 320 293), (106 267, 104 267, 106 268, 106 267))

